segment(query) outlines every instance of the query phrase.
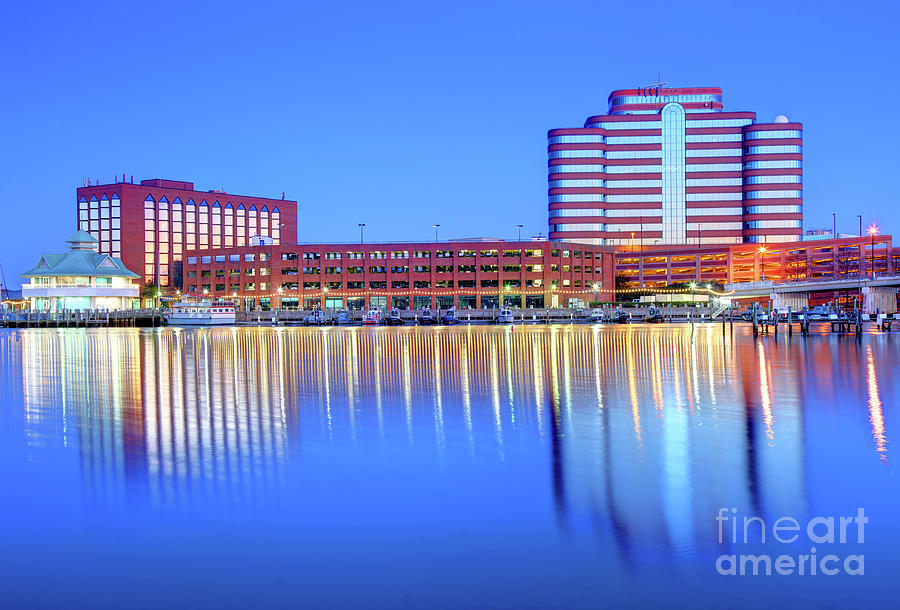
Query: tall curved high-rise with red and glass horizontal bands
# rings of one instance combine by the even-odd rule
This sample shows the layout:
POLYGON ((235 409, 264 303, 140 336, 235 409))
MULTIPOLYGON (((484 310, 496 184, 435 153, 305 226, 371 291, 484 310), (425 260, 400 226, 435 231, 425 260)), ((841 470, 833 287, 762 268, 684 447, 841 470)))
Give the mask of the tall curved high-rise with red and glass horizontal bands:
POLYGON ((796 241, 803 126, 725 112, 718 87, 623 89, 548 133, 550 239, 615 246, 796 241))

